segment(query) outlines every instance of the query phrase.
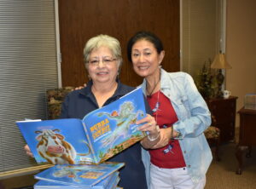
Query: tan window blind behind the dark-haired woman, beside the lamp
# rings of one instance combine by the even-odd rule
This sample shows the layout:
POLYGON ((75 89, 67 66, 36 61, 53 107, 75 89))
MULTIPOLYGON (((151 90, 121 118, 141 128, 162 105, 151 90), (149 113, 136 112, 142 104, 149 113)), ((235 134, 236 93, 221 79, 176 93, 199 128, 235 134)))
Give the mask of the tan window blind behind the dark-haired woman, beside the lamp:
POLYGON ((192 76, 213 60, 219 44, 221 0, 181 1, 181 67, 192 76))

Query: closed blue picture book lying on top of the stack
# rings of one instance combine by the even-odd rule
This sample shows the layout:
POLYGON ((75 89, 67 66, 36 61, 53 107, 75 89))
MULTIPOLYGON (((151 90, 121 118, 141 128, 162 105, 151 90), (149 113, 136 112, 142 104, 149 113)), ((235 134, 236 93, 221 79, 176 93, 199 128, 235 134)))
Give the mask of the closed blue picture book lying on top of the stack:
MULTIPOLYGON (((92 187, 124 165, 125 163, 61 164, 46 169, 34 177, 63 185, 92 187)), ((104 186, 104 183, 102 185, 104 186)))

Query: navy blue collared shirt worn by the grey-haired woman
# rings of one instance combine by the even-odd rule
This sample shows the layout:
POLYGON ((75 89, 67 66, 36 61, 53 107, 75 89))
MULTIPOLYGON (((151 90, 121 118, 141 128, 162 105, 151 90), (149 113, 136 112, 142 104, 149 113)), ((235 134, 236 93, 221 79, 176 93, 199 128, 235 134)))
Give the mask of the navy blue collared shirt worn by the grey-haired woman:
MULTIPOLYGON (((91 92, 92 82, 87 87, 80 90, 74 90, 67 94, 62 108, 61 118, 80 118, 82 119, 87 113, 96 110, 99 106, 96 98, 91 92)), ((108 105, 114 100, 118 100, 121 96, 129 93, 135 88, 124 85, 118 81, 118 88, 103 106, 108 105)), ((147 106, 148 109, 149 106, 147 106)), ((125 189, 144 189, 147 188, 145 169, 142 161, 141 145, 137 144, 125 149, 113 158, 109 158, 109 162, 123 162, 125 167, 120 169, 119 186, 125 189)))

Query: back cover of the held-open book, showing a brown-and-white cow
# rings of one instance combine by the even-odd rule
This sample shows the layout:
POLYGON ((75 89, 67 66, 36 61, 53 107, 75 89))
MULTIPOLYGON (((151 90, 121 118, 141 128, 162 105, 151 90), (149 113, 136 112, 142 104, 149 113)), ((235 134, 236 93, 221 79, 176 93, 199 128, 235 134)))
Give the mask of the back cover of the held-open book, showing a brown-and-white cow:
POLYGON ((91 150, 80 119, 16 122, 37 163, 91 163, 91 150))

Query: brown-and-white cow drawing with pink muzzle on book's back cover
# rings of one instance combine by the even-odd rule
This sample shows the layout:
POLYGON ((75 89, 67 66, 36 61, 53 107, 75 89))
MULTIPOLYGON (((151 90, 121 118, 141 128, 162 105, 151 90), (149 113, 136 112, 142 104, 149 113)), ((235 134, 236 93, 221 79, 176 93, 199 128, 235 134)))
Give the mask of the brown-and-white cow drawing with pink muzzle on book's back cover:
MULTIPOLYGON (((74 147, 67 142, 65 137, 61 134, 60 129, 43 129, 35 131, 39 134, 36 139, 38 140, 37 151, 38 154, 52 164, 73 164, 77 156, 74 147)), ((84 142, 89 149, 89 152, 82 154, 84 156, 90 154, 90 146, 84 142)), ((79 154, 80 155, 80 154, 79 154)))

